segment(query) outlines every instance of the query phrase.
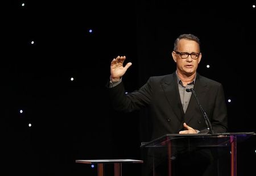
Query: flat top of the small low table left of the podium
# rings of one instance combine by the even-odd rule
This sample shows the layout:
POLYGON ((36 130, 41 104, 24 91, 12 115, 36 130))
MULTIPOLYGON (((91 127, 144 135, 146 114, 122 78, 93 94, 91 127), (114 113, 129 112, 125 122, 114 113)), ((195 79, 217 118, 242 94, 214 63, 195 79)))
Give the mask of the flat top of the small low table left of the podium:
POLYGON ((143 163, 142 160, 118 159, 118 160, 76 160, 78 163, 84 164, 100 164, 100 163, 143 163))

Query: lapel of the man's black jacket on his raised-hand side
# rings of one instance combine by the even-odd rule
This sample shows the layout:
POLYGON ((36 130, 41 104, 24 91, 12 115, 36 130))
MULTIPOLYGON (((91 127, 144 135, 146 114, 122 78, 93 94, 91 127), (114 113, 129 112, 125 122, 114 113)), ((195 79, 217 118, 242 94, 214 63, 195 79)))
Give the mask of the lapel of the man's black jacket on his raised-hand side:
POLYGON ((174 73, 166 77, 162 82, 162 87, 166 98, 170 104, 170 108, 172 108, 180 121, 184 121, 184 112, 180 101, 176 74, 174 73))

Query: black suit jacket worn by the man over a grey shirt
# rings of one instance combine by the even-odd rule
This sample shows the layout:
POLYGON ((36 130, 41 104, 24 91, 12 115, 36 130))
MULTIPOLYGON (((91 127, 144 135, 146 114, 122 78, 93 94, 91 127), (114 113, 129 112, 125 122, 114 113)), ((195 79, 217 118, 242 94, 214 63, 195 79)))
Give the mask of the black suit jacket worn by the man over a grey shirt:
MULTIPOLYGON (((212 123, 213 131, 227 131, 227 110, 221 83, 200 76, 197 73, 194 90, 199 102, 212 123)), ((203 115, 191 95, 184 113, 180 100, 176 73, 150 77, 139 90, 125 94, 123 83, 110 88, 113 107, 119 111, 131 112, 147 107, 152 118, 152 139, 167 133, 179 133, 183 123, 199 131, 207 128, 203 115)))

